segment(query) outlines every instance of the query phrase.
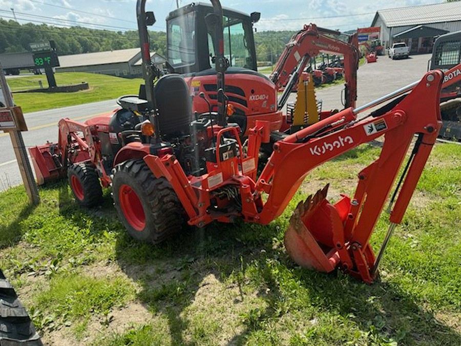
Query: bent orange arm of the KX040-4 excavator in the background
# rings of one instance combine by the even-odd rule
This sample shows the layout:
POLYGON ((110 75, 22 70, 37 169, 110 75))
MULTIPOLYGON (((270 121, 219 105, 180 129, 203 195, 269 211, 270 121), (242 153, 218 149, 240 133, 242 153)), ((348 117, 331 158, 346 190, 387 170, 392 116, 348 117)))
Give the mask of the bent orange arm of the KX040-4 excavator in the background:
MULTIPOLYGON (((327 32, 325 32, 327 33, 327 32)), ((359 64, 359 50, 357 34, 349 38, 346 43, 342 40, 326 36, 322 29, 315 24, 305 25, 303 30, 293 35, 290 42, 280 56, 277 66, 270 75, 270 79, 279 89, 286 84, 284 93, 280 97, 278 109, 283 108, 292 86, 298 82, 301 72, 309 59, 320 52, 343 54, 344 73, 346 79, 345 107, 355 107, 357 99, 357 69, 359 64), (291 77, 290 77, 291 74, 291 77), (285 95, 285 93, 287 95, 285 95)))

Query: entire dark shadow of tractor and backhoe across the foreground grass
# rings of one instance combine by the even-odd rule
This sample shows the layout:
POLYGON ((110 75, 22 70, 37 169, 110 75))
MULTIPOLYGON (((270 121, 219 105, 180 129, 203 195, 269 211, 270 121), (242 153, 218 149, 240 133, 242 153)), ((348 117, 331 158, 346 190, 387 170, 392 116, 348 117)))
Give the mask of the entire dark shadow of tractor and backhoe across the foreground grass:
MULTIPOLYGON (((237 277, 241 292, 239 299, 245 299, 242 290, 248 284, 248 277, 239 280, 236 273, 244 274, 245 268, 249 265, 254 268, 255 263, 257 280, 260 280, 256 295, 264 304, 258 309, 248 308, 238 317, 243 330, 230 335, 226 344, 243 344, 261 331, 268 332, 265 330, 267 325, 277 324, 290 311, 290 303, 286 301, 292 299, 285 291, 282 293, 278 269, 271 267, 267 260, 274 258, 277 258, 279 269, 289 272, 297 286, 308 292, 307 309, 313 307, 315 311, 331 311, 338 318, 345 317, 357 325, 362 340, 366 342, 374 340, 381 344, 392 338, 399 344, 461 344, 459 333, 423 309, 420 302, 397 284, 379 280, 368 286, 341 273, 335 276, 301 269, 282 248, 273 249, 272 239, 280 237, 277 226, 257 226, 257 230, 249 231, 244 230, 245 227, 249 228, 249 225, 213 223, 203 230, 191 230, 158 246, 140 244, 119 234, 116 259, 120 268, 140 284, 142 289, 138 298, 144 307, 167 319, 167 335, 172 344, 214 340, 209 338, 216 338, 216 335, 210 336, 206 332, 202 336, 193 336, 192 341, 184 339, 184 335, 191 334, 191 330, 197 327, 184 312, 194 303, 197 292, 204 285, 203 279, 210 274, 224 284, 231 275, 234 280, 237 277), (258 232, 261 230, 263 233, 258 232), (241 232, 247 237, 243 241, 241 232), (248 235, 250 232, 255 234, 248 235), (264 254, 261 254, 262 249, 264 254)), ((208 309, 211 309, 208 313, 213 313, 213 306, 208 309)), ((345 329, 344 326, 339 328, 345 329)), ((277 343, 278 336, 273 336, 275 339, 271 342, 277 343)), ((266 337, 270 339, 270 332, 266 337)), ((321 336, 319 341, 322 341, 321 336)))

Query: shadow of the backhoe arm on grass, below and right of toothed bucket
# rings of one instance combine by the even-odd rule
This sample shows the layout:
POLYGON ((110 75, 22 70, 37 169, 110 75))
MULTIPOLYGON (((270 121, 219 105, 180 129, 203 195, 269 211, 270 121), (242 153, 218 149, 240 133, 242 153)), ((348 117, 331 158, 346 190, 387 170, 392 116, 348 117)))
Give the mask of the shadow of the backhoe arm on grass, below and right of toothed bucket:
POLYGON ((341 273, 333 277, 300 268, 295 272, 323 309, 348 316, 368 340, 386 342, 392 338, 399 344, 412 345, 461 344, 457 331, 437 320, 423 308, 423 302, 404 292, 399 284, 378 278, 367 285, 341 273))

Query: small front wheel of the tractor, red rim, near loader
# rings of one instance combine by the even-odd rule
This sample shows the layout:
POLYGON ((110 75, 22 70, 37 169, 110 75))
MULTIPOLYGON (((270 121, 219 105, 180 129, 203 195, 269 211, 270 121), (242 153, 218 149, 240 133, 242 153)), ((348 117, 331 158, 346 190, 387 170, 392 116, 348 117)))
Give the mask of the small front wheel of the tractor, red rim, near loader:
POLYGON ((89 162, 80 162, 67 170, 69 185, 77 202, 86 208, 98 205, 102 200, 102 188, 96 169, 89 162))

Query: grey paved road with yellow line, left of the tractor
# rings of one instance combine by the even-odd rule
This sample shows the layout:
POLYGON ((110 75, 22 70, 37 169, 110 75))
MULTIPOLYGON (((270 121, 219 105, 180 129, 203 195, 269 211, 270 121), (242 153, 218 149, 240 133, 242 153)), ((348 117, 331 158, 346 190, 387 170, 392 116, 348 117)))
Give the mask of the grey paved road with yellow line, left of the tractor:
MULTIPOLYGON (((63 117, 84 121, 92 116, 109 112, 117 107, 115 100, 107 100, 26 113, 25 118, 29 131, 22 132, 26 148, 45 144, 47 140, 56 141, 58 135, 57 122, 63 117)), ((0 191, 22 184, 22 182, 10 136, 8 133, 0 132, 0 191)))

